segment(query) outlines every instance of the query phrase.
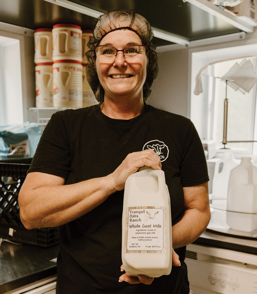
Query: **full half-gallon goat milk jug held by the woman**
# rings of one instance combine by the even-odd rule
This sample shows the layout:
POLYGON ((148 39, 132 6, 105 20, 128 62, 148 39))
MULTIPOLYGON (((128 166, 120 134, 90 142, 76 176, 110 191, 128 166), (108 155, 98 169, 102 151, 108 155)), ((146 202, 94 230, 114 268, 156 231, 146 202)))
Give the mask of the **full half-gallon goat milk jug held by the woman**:
POLYGON ((171 205, 161 170, 144 166, 125 182, 121 258, 129 276, 171 272, 171 205))

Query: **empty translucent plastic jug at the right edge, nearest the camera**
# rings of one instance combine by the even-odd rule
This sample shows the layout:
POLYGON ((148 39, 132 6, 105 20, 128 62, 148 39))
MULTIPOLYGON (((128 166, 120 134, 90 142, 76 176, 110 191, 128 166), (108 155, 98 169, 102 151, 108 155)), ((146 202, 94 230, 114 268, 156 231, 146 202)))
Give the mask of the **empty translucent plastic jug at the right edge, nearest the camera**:
POLYGON ((234 230, 251 232, 257 228, 257 167, 250 157, 242 157, 230 172, 227 224, 234 230))

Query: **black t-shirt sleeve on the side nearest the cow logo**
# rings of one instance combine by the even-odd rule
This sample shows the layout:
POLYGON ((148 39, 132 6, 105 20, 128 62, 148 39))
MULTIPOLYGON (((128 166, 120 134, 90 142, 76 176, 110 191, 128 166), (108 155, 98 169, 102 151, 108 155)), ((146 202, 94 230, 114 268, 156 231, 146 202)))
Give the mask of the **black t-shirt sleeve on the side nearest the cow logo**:
POLYGON ((196 186, 208 181, 208 169, 203 145, 195 126, 190 121, 183 144, 181 163, 182 186, 196 186))

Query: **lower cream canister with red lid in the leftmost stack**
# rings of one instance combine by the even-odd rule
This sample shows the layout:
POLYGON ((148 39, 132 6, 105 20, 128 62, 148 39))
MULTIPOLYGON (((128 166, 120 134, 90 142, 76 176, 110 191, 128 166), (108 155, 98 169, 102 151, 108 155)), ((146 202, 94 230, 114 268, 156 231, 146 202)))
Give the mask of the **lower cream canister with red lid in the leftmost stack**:
POLYGON ((36 107, 53 107, 53 62, 37 63, 36 107))

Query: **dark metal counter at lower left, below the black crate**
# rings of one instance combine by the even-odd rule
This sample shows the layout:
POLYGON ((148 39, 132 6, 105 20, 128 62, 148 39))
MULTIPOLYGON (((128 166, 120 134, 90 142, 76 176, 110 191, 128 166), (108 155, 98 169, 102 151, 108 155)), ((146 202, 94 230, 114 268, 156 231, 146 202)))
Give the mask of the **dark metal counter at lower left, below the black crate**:
POLYGON ((3 241, 0 246, 0 294, 56 274, 51 261, 59 253, 59 245, 41 248, 3 241))

